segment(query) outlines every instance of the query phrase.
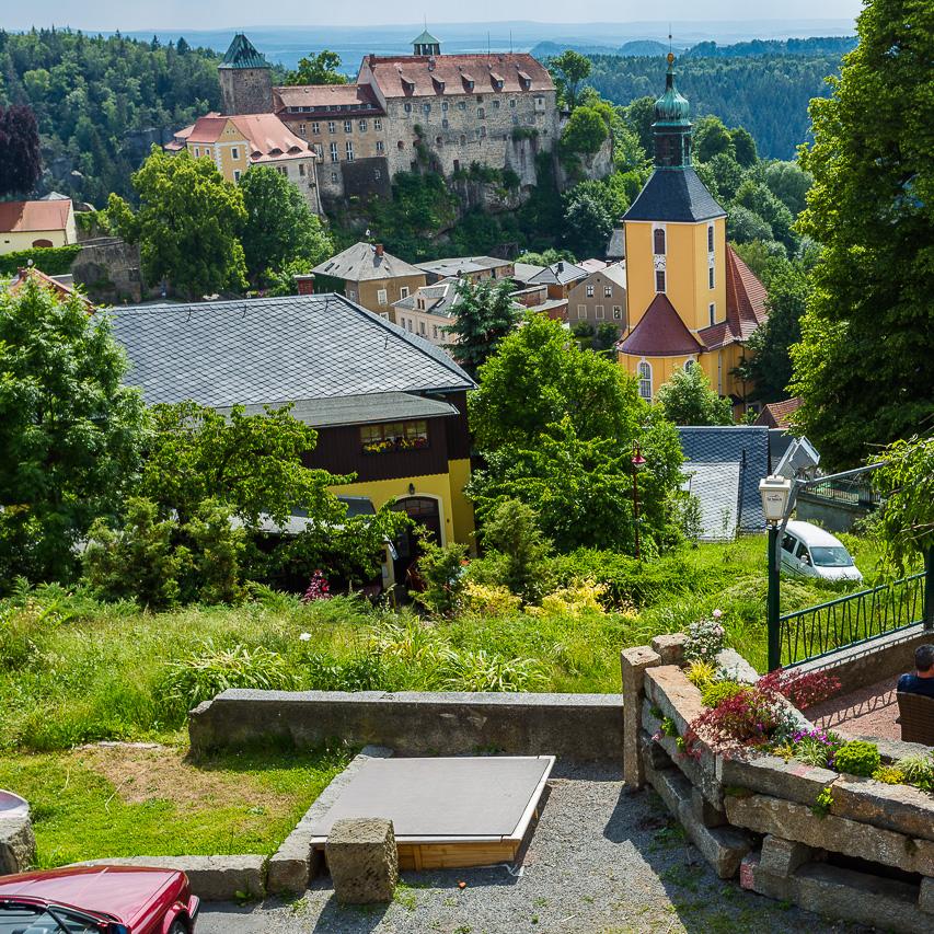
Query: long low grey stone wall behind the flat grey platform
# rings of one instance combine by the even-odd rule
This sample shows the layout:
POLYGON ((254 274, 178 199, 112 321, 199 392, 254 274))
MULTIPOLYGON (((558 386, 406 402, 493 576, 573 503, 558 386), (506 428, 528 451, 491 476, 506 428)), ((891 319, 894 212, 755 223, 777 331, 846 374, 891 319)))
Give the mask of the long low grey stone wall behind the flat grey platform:
POLYGON ((619 694, 229 690, 188 714, 188 735, 195 756, 339 738, 402 756, 496 750, 619 761, 622 703, 619 694))

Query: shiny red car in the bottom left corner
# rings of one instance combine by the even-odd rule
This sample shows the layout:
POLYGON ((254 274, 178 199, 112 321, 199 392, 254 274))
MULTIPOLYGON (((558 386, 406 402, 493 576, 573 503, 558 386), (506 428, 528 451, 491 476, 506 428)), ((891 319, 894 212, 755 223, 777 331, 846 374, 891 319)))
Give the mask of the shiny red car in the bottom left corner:
POLYGON ((194 934, 198 899, 174 869, 74 866, 0 876, 0 934, 194 934))

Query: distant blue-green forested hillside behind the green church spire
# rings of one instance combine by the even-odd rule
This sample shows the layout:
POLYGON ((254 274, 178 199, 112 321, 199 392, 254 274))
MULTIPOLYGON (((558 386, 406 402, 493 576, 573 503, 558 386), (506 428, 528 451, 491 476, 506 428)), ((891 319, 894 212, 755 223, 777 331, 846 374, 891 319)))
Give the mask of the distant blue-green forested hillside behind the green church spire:
MULTIPOLYGON (((588 83, 615 104, 657 97, 665 90, 665 61, 658 57, 595 55, 590 59, 593 70, 588 83)), ((840 55, 685 54, 678 66, 678 87, 695 117, 715 114, 727 126, 746 127, 760 155, 791 159, 807 138, 808 102, 829 95, 825 78, 840 71, 840 55)))

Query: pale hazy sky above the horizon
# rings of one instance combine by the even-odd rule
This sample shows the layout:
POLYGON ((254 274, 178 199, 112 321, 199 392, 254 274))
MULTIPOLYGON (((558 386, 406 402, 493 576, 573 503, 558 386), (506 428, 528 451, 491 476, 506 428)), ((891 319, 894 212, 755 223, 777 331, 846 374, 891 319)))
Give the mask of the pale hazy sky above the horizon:
MULTIPOLYGON (((354 0, 324 4, 309 0, 277 0, 275 12, 256 0, 0 0, 0 25, 5 30, 31 26, 72 26, 81 30, 180 30, 247 27, 255 25, 385 25, 418 23, 429 12, 431 23, 534 20, 550 23, 626 23, 678 20, 833 20, 853 19, 861 0, 782 0, 764 4, 750 0, 354 0), (316 9, 315 9, 316 8, 316 9), (573 12, 572 12, 573 11, 573 12)), ((429 23, 430 25, 430 23, 429 23)))

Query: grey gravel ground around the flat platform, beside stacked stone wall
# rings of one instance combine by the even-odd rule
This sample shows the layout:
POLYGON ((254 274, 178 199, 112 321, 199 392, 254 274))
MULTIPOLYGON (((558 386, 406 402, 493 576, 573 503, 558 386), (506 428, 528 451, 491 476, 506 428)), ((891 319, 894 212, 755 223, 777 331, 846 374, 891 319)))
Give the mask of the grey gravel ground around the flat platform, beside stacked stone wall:
POLYGON ((742 891, 714 876, 652 793, 616 770, 558 763, 522 861, 405 873, 392 904, 341 908, 319 878, 290 903, 206 906, 198 934, 808 934, 860 931, 742 891), (459 881, 465 881, 461 889, 459 881))

